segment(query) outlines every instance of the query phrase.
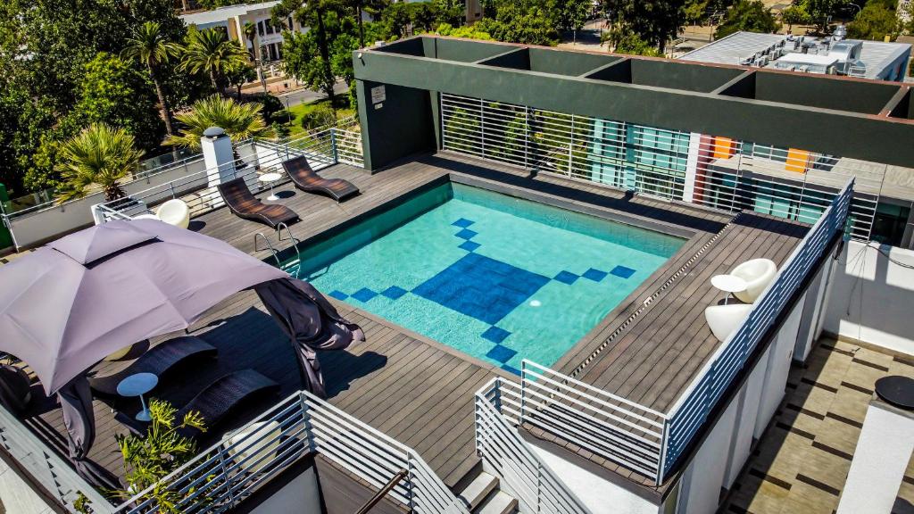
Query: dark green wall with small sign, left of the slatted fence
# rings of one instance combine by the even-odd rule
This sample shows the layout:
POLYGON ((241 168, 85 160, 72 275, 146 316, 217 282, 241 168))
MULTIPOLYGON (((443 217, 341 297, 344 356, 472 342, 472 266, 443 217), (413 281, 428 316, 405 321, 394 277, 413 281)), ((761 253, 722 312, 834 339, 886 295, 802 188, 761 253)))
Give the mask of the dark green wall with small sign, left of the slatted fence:
POLYGON ((356 80, 356 96, 367 170, 437 147, 429 91, 356 80), (371 89, 377 86, 384 86, 384 102, 372 102, 371 89))

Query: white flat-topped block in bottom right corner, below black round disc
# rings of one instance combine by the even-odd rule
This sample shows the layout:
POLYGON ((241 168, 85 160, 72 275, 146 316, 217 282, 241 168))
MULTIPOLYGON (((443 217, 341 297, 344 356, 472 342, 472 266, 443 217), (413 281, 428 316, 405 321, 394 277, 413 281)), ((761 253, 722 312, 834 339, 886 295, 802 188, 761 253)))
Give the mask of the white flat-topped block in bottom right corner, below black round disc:
POLYGON ((912 451, 914 412, 871 401, 837 514, 891 512, 912 451))

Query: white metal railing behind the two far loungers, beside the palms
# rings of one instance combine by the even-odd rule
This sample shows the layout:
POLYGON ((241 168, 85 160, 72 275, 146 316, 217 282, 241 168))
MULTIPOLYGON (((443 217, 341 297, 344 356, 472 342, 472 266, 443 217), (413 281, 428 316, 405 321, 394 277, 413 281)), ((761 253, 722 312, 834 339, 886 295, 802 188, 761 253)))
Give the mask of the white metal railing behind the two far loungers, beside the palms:
POLYGON ((293 157, 304 155, 315 171, 345 163, 352 166, 363 166, 361 133, 331 127, 283 143, 265 140, 247 140, 235 145, 239 158, 221 166, 220 169, 207 169, 188 174, 165 184, 149 187, 128 198, 101 204, 104 220, 117 217, 133 218, 149 212, 149 206, 161 203, 170 198, 182 198, 191 214, 197 216, 223 204, 217 187, 211 186, 215 177, 243 177, 253 192, 264 191, 269 185, 257 180, 261 174, 280 173, 283 177, 274 185, 289 181, 282 169, 282 163, 293 157))

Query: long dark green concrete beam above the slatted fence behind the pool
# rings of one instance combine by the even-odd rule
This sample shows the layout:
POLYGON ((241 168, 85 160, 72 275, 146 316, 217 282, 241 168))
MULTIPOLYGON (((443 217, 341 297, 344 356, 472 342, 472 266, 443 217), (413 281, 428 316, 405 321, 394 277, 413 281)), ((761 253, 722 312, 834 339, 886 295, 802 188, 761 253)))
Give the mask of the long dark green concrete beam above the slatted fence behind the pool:
MULTIPOLYGON (((453 40, 450 39, 439 40, 436 42, 439 48, 444 41, 447 41, 449 45, 453 43, 453 40)), ((423 45, 429 44, 423 43, 423 45)), ((495 47, 505 48, 505 45, 472 41, 462 42, 462 44, 469 45, 467 48, 481 45, 473 50, 477 52, 494 51, 495 47)), ((456 51, 456 47, 451 49, 456 51)), ((664 63, 654 66, 654 68, 661 70, 664 65, 677 66, 680 64, 664 63)), ((636 66, 641 66, 646 70, 652 65, 639 64, 636 66)), ((686 66, 695 67, 696 71, 684 72, 692 75, 700 74, 703 70, 710 75, 717 73, 716 70, 724 69, 701 65, 686 66)), ((742 69, 739 68, 731 70, 742 72, 742 69)), ((754 75, 763 73, 778 74, 756 71, 754 75)), ((714 80, 702 83, 702 89, 722 86, 731 76, 731 73, 725 71, 714 80), (715 80, 719 80, 719 84, 715 80)), ((835 85, 834 88, 823 86, 823 88, 817 89, 828 95, 851 90, 865 95, 866 99, 848 101, 849 105, 855 108, 868 109, 872 105, 882 102, 886 91, 898 91, 898 88, 901 87, 866 80, 826 79, 792 74, 790 76, 798 80, 813 79, 816 80, 816 84, 819 83, 819 80, 841 82, 841 85, 835 85), (847 85, 854 82, 861 85, 847 85), (831 92, 833 89, 835 93, 831 92)), ((899 122, 896 119, 879 118, 859 112, 836 112, 821 107, 766 102, 752 98, 687 91, 686 89, 664 89, 607 80, 478 66, 467 62, 396 55, 389 51, 383 53, 365 51, 364 59, 356 60, 356 78, 658 128, 723 135, 763 145, 803 148, 829 155, 842 155, 899 166, 914 166, 914 145, 898 144, 903 141, 914 141, 914 123, 899 122)), ((766 84, 774 84, 771 86, 772 88, 784 88, 781 95, 792 98, 791 91, 793 90, 788 89, 792 85, 787 83, 792 80, 768 80, 766 78, 764 81, 766 84)))

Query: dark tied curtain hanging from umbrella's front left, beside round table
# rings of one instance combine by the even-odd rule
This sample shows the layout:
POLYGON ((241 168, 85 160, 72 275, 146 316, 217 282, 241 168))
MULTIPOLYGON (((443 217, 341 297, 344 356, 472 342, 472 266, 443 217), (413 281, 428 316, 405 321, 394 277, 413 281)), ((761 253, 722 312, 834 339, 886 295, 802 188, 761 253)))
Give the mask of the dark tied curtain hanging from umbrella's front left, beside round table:
POLYGON ((92 412, 92 393, 85 375, 60 388, 58 391, 63 423, 67 426, 69 460, 76 472, 92 487, 113 490, 120 487, 117 477, 107 469, 89 460, 89 450, 95 442, 95 413, 92 412))

